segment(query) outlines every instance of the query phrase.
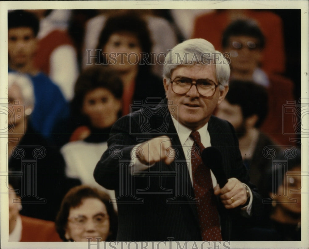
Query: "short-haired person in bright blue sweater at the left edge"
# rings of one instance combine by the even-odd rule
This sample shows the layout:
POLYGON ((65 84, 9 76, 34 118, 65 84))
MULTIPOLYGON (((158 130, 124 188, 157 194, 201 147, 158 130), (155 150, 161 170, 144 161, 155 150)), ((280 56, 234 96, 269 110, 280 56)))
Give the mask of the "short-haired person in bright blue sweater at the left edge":
POLYGON ((54 138, 61 143, 62 137, 53 133, 63 134, 63 123, 70 113, 69 105, 57 85, 33 64, 38 30, 39 22, 35 15, 23 10, 8 13, 9 72, 26 73, 31 78, 36 100, 31 124, 45 138, 54 138))

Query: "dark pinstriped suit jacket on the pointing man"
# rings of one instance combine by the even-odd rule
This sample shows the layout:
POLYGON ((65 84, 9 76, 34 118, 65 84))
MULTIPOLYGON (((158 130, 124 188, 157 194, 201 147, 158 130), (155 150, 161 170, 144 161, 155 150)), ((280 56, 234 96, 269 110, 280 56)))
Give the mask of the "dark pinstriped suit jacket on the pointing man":
MULTIPOLYGON (((190 182, 184 151, 166 105, 144 109, 120 118, 113 126, 108 149, 99 160, 95 180, 107 189, 115 189, 118 206, 118 234, 121 241, 201 241, 196 199, 190 182), (167 135, 175 160, 170 165, 156 163, 137 176, 129 172, 132 148, 143 141, 167 135)), ((227 178, 236 177, 253 193, 253 215, 244 218, 239 209, 218 208, 224 240, 242 238, 243 229, 261 215, 262 201, 249 182, 242 163, 238 139, 230 123, 212 116, 208 123, 211 144, 222 153, 227 178), (237 221, 237 223, 235 222, 237 221)), ((250 239, 249 239, 250 240, 250 239)))

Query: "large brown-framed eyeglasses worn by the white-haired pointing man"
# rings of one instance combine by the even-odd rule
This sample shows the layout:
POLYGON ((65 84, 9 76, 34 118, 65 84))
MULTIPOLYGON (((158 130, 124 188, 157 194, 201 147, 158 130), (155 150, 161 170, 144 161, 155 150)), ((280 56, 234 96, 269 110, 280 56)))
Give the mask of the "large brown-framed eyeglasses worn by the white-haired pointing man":
POLYGON ((217 86, 214 81, 209 79, 191 79, 187 77, 176 77, 171 80, 171 86, 174 93, 186 94, 190 91, 192 85, 196 86, 197 92, 204 97, 212 97, 216 92, 217 86), (195 84, 193 84, 195 82, 195 84))

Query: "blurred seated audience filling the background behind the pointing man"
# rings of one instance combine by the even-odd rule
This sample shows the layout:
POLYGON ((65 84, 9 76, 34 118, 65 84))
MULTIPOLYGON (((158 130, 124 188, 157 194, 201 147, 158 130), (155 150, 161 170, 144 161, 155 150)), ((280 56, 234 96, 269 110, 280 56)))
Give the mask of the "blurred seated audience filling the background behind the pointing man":
POLYGON ((147 105, 155 105, 165 97, 165 54, 190 38, 204 38, 230 55, 230 91, 216 115, 235 127, 251 180, 273 200, 265 204, 261 234, 299 240, 300 194, 289 195, 289 201, 297 200, 289 203, 278 199, 277 191, 299 189, 300 160, 279 172, 263 149, 273 146, 283 155, 287 146, 300 148, 300 117, 295 116, 300 37, 300 10, 290 9, 9 10, 7 157, 16 182, 9 188, 12 241, 38 239, 33 233, 24 237, 26 220, 44 232, 42 241, 116 238, 117 207, 110 203, 115 195, 95 183, 93 168, 118 118, 141 108, 147 98, 147 105), (137 54, 129 58, 135 63, 125 53, 137 54), (285 106, 294 110, 293 117, 285 106), (37 148, 46 154, 30 166, 26 161, 37 148), (273 177, 281 180, 269 189, 273 177), (27 197, 33 184, 36 191, 27 197), (59 236, 54 236, 55 221, 59 236))

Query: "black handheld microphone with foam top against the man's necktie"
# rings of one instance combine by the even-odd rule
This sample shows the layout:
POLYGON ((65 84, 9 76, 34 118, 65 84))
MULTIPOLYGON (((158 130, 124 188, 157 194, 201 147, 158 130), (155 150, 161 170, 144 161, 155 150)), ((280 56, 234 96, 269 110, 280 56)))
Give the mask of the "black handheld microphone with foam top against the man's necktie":
POLYGON ((214 173, 220 188, 223 188, 227 183, 227 178, 222 166, 221 152, 215 147, 207 147, 202 151, 201 158, 203 163, 214 173))

